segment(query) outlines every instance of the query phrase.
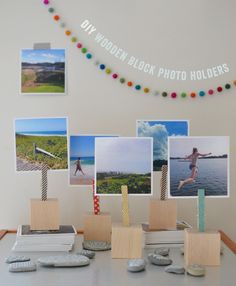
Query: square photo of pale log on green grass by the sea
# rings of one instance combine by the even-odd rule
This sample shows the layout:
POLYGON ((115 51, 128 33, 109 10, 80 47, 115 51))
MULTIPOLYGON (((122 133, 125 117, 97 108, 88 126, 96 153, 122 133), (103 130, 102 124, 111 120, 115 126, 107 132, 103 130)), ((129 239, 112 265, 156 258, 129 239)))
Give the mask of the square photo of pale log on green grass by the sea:
POLYGON ((17 171, 68 169, 67 118, 15 119, 17 171))

